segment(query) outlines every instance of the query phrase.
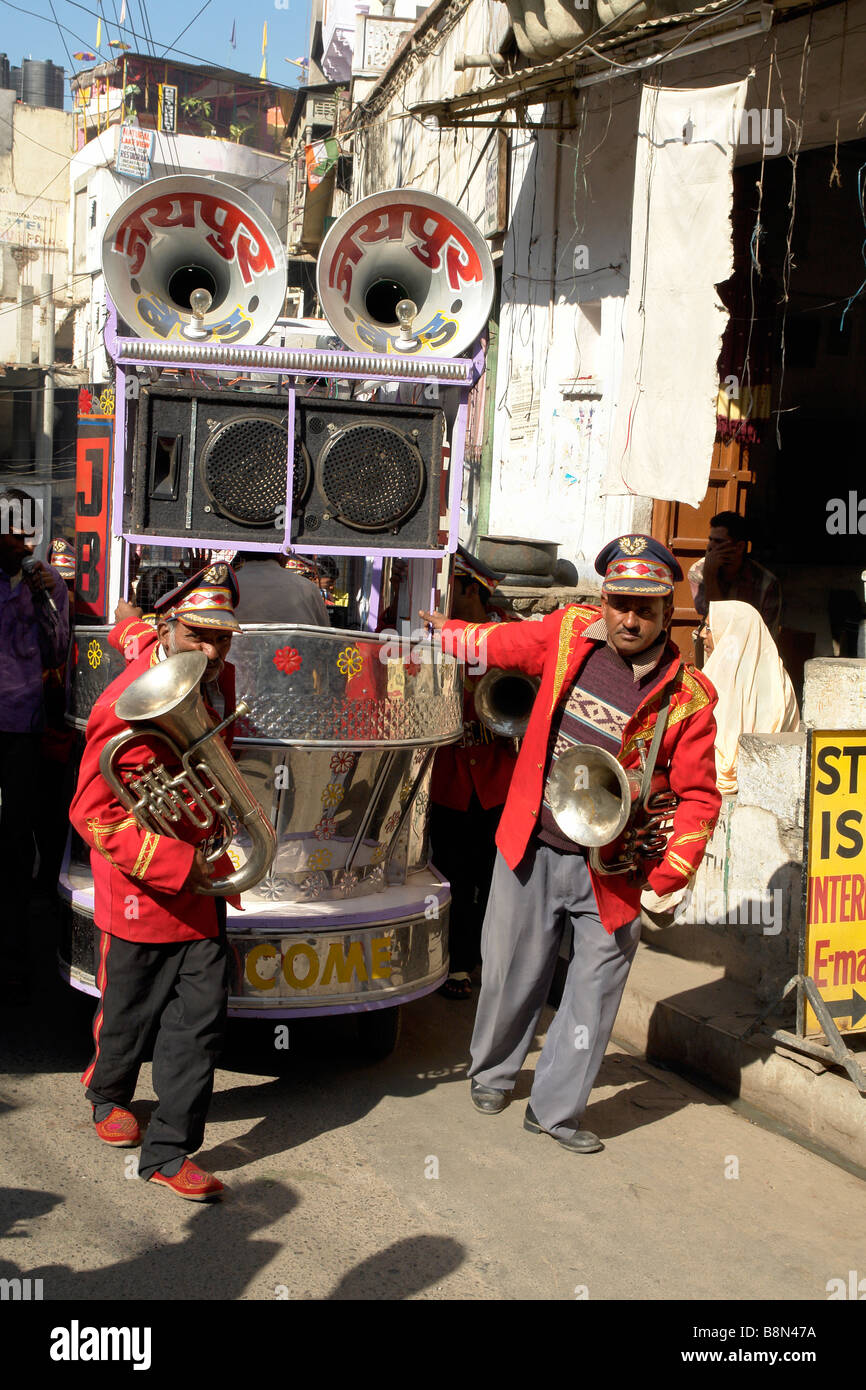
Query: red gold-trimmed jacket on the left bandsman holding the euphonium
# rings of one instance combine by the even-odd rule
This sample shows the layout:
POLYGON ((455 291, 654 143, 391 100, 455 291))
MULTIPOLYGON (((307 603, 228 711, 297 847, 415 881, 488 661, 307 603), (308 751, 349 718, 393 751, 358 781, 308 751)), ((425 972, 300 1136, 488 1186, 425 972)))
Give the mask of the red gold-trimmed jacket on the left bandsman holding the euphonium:
MULTIPOLYGON (((90 712, 86 745, 78 773, 78 788, 70 808, 70 820, 90 847, 93 867, 95 923, 126 941, 195 941, 218 933, 215 901, 211 897, 183 890, 199 845, 210 831, 200 830, 181 819, 175 826, 178 840, 145 830, 132 812, 117 799, 99 770, 103 748, 115 734, 128 728, 118 719, 115 705, 128 685, 158 662, 154 628, 142 620, 117 624, 108 641, 128 659, 126 670, 108 685, 90 712), (138 651, 139 655, 133 655, 138 651)), ((220 677, 225 696, 225 712, 235 709, 235 671, 231 663, 220 677), (231 701, 231 703, 229 703, 231 701)), ((214 723, 217 716, 209 713, 214 723)), ((231 744, 232 726, 220 735, 231 744)), ((154 756, 177 771, 168 749, 157 739, 142 738, 128 744, 115 771, 121 781, 140 763, 154 756)), ((211 865, 213 877, 231 873, 234 865, 222 855, 211 865)), ((238 902, 238 899, 231 899, 238 902)))

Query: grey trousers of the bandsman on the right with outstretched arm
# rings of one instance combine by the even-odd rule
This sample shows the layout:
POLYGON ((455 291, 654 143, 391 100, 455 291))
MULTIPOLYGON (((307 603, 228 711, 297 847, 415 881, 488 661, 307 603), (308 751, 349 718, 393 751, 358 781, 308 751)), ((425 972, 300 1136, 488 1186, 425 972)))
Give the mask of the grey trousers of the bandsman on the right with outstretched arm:
POLYGON ((510 1091, 530 1051, 569 922, 563 998, 535 1068, 530 1104, 542 1129, 570 1138, 610 1041, 641 919, 605 931, 582 855, 537 842, 509 869, 496 855, 481 934, 481 995, 468 1074, 510 1091))

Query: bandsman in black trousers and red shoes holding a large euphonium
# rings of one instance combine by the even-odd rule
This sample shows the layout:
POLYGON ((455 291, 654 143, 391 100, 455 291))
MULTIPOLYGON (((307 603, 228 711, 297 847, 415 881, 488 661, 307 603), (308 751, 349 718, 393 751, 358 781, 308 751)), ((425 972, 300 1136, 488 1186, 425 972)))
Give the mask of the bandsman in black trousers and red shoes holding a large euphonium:
MULTIPOLYGON (((196 892, 211 877, 204 859, 209 831, 185 819, 177 824, 177 840, 145 830, 117 799, 100 773, 99 759, 108 739, 126 728, 115 713, 120 695, 177 652, 200 651, 207 656, 202 691, 214 723, 234 713, 234 669, 225 656, 232 634, 240 631, 234 614, 236 595, 228 566, 214 564, 160 600, 156 630, 138 616, 118 623, 111 642, 124 651, 129 664, 93 706, 70 809, 72 824, 90 845, 93 917, 99 929, 101 999, 93 1020, 95 1056, 82 1076, 96 1131, 117 1147, 142 1141, 128 1105, 154 1038, 153 1087, 158 1101, 142 1143, 139 1177, 193 1201, 222 1191, 222 1183, 196 1168, 188 1155, 204 1136, 225 1027, 225 903, 196 892), (224 709, 214 708, 217 701, 224 709)), ((142 738, 122 749, 115 771, 125 780, 124 774, 150 756, 168 766, 165 745, 142 738)), ((231 869, 224 855, 213 866, 213 876, 231 869)))

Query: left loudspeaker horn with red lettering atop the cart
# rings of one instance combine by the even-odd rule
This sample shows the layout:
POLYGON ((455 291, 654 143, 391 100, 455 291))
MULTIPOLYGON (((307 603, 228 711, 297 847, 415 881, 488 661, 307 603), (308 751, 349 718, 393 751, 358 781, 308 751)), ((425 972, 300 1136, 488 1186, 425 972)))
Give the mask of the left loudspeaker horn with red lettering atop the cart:
POLYGON ((260 343, 285 303, 286 256, 245 193, 195 174, 131 193, 103 236, 103 274, 139 338, 260 343), (193 314, 190 296, 211 303, 193 314))

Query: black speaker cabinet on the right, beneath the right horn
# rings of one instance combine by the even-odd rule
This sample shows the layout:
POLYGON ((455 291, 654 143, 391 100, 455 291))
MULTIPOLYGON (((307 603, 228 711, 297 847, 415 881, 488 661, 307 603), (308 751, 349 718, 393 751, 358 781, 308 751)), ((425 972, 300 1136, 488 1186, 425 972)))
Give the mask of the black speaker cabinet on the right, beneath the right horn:
POLYGON ((295 427, 311 480, 292 520, 295 543, 439 548, 441 410, 299 396, 295 427))

